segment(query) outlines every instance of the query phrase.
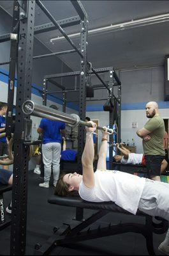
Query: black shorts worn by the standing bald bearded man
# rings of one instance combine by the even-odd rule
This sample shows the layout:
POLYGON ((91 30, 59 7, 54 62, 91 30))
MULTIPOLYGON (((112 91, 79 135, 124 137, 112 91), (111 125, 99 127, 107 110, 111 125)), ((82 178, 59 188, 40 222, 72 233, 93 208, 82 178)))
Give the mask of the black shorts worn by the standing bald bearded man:
POLYGON ((145 156, 145 165, 147 168, 148 176, 160 176, 161 174, 161 163, 165 159, 165 156, 145 156))

